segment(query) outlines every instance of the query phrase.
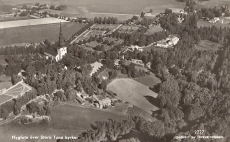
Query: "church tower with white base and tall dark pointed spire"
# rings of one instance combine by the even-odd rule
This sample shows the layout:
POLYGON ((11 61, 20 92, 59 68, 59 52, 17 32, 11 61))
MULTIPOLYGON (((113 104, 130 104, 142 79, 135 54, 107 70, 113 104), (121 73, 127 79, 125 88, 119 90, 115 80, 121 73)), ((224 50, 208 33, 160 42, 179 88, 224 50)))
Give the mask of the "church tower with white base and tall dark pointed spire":
POLYGON ((65 46, 65 41, 62 34, 62 27, 60 22, 60 33, 59 33, 56 61, 61 60, 65 54, 67 54, 67 47, 65 46))

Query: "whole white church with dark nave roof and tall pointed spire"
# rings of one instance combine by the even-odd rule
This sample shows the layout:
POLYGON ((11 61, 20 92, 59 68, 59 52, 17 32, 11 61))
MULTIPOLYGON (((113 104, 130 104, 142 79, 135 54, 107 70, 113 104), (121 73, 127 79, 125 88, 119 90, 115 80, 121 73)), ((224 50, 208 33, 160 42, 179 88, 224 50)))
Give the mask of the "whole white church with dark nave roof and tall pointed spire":
POLYGON ((46 58, 51 58, 52 60, 55 60, 56 62, 60 61, 65 54, 67 54, 67 47, 65 46, 64 37, 62 35, 62 28, 60 23, 60 33, 59 33, 59 41, 58 41, 58 47, 57 48, 49 48, 44 53, 46 55, 46 58))

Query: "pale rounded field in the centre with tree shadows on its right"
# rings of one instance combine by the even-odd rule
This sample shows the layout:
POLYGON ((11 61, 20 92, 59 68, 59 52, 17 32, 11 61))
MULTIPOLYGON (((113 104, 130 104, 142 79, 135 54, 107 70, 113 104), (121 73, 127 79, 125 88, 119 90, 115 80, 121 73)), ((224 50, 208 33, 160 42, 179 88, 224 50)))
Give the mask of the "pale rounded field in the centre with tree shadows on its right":
POLYGON ((119 98, 138 108, 152 114, 158 108, 151 104, 148 99, 156 98, 158 94, 133 79, 115 79, 107 89, 116 93, 119 98), (125 86, 125 87, 124 87, 125 86))

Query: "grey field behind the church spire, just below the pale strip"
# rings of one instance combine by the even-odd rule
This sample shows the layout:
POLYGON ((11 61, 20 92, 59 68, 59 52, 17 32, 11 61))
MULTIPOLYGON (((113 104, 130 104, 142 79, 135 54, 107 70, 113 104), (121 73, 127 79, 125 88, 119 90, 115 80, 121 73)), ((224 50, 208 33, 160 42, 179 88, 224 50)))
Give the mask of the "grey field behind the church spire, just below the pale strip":
MULTIPOLYGON (((62 33, 64 38, 68 39, 83 26, 85 26, 85 24, 72 22, 62 23, 62 33)), ((49 41, 57 41, 59 36, 59 29, 59 23, 1 29, 0 46, 18 43, 41 42, 45 39, 48 39, 49 41)))

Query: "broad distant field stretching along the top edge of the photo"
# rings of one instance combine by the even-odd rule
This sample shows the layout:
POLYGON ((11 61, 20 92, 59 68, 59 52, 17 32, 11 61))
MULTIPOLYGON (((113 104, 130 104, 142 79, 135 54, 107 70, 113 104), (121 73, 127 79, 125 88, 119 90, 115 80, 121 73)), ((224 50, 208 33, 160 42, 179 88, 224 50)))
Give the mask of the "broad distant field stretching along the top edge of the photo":
MULTIPOLYGON (((8 5, 35 4, 37 0, 2 0, 8 5)), ((40 0, 39 3, 65 4, 70 9, 82 8, 97 13, 140 14, 143 9, 153 8, 153 12, 163 12, 166 8, 181 8, 184 3, 175 0, 40 0)), ((68 9, 67 9, 68 10, 68 9)))

